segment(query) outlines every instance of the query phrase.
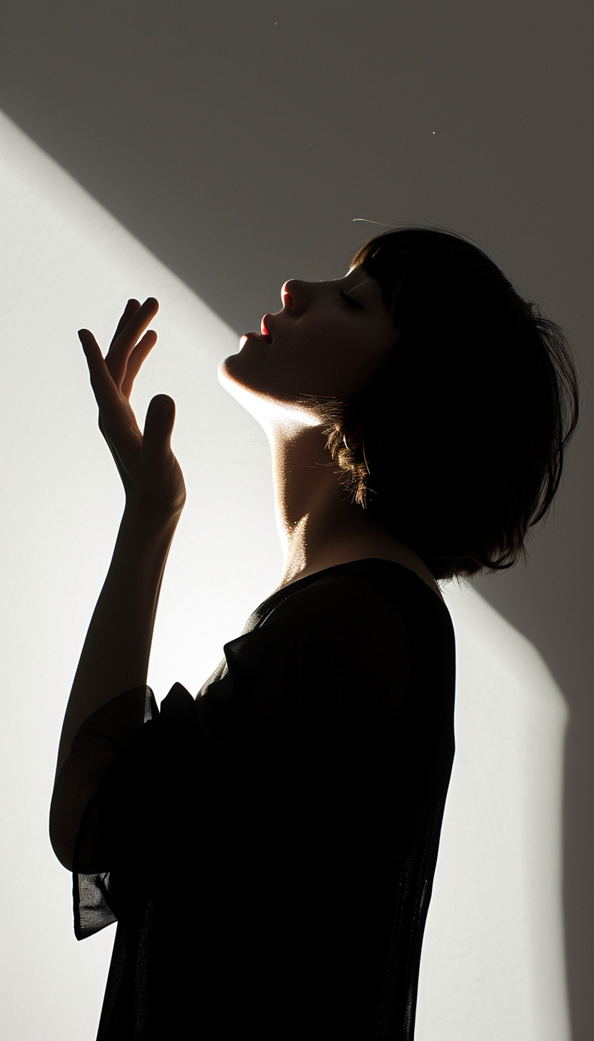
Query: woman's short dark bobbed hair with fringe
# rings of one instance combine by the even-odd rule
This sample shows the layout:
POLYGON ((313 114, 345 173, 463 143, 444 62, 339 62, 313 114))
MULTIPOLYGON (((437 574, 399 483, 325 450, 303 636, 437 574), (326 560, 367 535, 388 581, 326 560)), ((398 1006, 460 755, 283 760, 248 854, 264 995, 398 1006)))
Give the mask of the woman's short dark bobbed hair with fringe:
POLYGON ((392 229, 352 265, 379 281, 399 337, 363 389, 300 396, 318 406, 329 465, 436 579, 525 562, 578 417, 561 328, 455 232, 392 229))

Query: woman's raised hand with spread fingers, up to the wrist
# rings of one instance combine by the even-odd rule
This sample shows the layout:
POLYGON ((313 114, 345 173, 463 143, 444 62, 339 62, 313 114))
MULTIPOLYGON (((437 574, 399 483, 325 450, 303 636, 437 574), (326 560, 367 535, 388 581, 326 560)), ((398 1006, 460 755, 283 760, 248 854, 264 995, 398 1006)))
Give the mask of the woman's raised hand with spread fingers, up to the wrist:
POLYGON ((154 330, 145 330, 158 309, 154 297, 141 306, 129 300, 105 357, 88 329, 80 329, 78 336, 99 406, 99 429, 120 472, 126 505, 166 520, 179 516, 185 503, 183 475, 171 447, 175 402, 167 395, 153 398, 144 433, 130 405, 134 379, 157 341, 154 330))

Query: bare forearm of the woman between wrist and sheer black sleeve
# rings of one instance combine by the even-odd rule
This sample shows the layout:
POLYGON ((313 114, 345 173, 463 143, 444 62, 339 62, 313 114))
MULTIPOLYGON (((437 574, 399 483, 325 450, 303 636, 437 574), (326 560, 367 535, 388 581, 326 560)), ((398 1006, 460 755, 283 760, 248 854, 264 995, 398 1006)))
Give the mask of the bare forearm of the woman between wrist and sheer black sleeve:
POLYGON ((128 509, 124 512, 72 685, 56 778, 84 720, 147 682, 159 591, 178 519, 157 525, 128 509))

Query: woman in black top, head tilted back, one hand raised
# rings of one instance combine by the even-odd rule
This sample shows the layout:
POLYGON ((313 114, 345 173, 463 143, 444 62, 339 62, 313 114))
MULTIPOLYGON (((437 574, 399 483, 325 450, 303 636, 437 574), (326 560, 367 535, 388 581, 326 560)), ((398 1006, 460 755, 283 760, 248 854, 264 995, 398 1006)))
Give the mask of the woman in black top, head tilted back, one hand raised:
POLYGON ((273 455, 284 567, 193 699, 146 686, 185 501, 157 302, 79 335, 126 491, 61 735, 50 833, 80 939, 118 920, 98 1037, 411 1039, 454 758, 438 579, 512 566, 577 422, 558 327, 461 237, 378 235, 286 282, 219 366, 273 455), (144 333, 144 335, 141 335, 144 333))

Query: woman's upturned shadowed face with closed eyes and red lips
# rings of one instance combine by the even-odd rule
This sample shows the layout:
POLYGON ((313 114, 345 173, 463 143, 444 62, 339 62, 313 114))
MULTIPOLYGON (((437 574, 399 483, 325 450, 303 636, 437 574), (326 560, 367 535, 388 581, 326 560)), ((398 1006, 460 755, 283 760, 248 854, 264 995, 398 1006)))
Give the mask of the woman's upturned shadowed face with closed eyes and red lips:
POLYGON ((222 361, 222 381, 287 404, 300 393, 353 393, 397 341, 380 283, 361 268, 330 282, 291 278, 281 298, 260 333, 242 336, 239 353, 222 361))

